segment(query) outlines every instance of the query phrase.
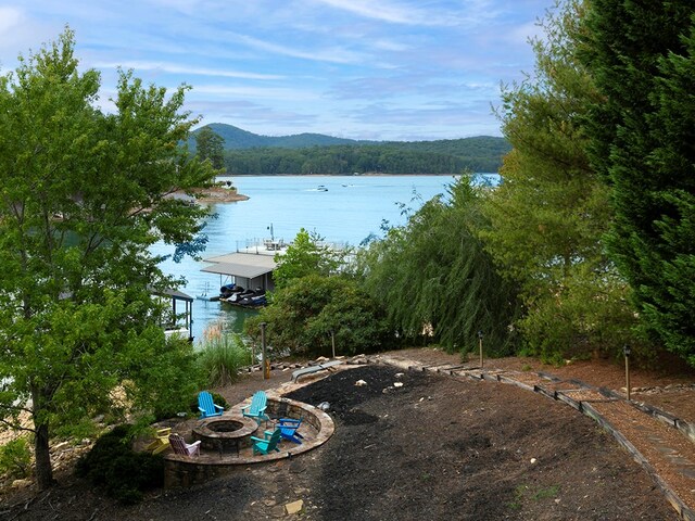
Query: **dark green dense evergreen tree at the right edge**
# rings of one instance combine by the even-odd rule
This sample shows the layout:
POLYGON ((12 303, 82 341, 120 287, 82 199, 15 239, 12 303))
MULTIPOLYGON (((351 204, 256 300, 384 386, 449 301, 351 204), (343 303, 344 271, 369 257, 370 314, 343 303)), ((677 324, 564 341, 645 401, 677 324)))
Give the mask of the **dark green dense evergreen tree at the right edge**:
POLYGON ((611 187, 607 246, 647 330, 695 365, 695 5, 592 0, 582 60, 602 98, 589 113, 611 187))

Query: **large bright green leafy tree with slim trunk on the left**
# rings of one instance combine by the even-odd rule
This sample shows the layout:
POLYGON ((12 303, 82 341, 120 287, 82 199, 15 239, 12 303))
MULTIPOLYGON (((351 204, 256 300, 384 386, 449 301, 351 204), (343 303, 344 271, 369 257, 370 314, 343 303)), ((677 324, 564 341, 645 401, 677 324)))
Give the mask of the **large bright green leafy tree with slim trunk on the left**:
POLYGON ((99 87, 70 29, 0 77, 0 421, 34 433, 41 487, 54 429, 186 399, 192 381, 191 347, 157 327, 152 295, 175 281, 148 246, 195 243, 206 211, 167 195, 214 173, 179 148, 185 88, 121 72, 105 114, 99 87))

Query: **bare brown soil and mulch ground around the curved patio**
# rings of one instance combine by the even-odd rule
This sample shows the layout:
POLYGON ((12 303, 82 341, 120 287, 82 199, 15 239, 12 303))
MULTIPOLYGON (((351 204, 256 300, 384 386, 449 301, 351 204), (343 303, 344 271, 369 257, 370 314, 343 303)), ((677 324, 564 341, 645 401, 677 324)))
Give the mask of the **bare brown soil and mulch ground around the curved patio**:
MULTIPOLYGON (((388 357, 459 361, 434 350, 388 357)), ((506 358, 485 360, 485 367, 540 370, 618 392, 624 386, 624 369, 605 360, 558 368, 506 358)), ((291 370, 274 370, 270 380, 255 372, 218 391, 236 404, 290 377, 291 370)), ((692 421, 693 381, 687 371, 634 371, 632 386, 644 391, 633 398, 656 398, 692 421), (675 393, 687 399, 672 398, 675 393)), ((290 397, 330 404, 336 433, 328 443, 189 490, 159 491, 132 507, 64 471, 49 492, 29 487, 0 496, 0 519, 679 519, 642 467, 595 422, 513 385, 369 364, 290 397), (358 380, 366 385, 355 385, 358 380), (286 514, 285 505, 295 500, 303 501, 302 512, 286 514)))

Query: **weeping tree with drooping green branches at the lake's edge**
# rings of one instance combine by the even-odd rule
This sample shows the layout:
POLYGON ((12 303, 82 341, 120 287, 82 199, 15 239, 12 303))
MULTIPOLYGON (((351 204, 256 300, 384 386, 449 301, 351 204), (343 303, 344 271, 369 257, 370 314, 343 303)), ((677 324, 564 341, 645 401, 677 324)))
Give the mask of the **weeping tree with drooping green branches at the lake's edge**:
POLYGON ((365 288, 405 342, 429 339, 465 354, 480 331, 489 354, 508 354, 514 288, 495 274, 476 238, 473 227, 482 223, 470 178, 462 176, 447 192, 359 253, 365 288))

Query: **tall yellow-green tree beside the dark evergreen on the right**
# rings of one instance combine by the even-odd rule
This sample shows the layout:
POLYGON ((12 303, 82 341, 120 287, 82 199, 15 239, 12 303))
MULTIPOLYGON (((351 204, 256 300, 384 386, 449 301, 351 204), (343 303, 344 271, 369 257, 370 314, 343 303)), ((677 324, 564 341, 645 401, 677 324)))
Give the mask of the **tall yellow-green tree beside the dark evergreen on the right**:
POLYGON ((503 90, 500 116, 513 145, 490 191, 481 231, 501 271, 521 288, 520 322, 547 358, 616 350, 632 321, 628 289, 604 253, 608 190, 585 152, 584 116, 599 96, 577 59, 584 2, 548 12, 532 41, 534 74, 503 90))

